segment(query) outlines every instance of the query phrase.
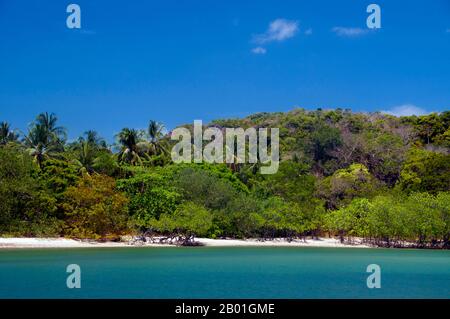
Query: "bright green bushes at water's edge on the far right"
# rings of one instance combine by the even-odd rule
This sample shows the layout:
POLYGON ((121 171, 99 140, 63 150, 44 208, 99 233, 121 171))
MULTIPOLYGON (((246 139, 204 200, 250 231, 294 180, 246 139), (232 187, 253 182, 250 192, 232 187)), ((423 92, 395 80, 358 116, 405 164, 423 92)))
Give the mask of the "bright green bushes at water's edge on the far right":
POLYGON ((340 236, 360 236, 377 244, 419 245, 449 240, 450 194, 412 193, 409 196, 358 198, 326 216, 327 228, 340 236))

